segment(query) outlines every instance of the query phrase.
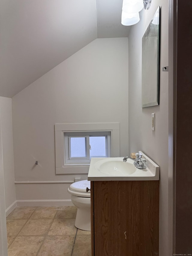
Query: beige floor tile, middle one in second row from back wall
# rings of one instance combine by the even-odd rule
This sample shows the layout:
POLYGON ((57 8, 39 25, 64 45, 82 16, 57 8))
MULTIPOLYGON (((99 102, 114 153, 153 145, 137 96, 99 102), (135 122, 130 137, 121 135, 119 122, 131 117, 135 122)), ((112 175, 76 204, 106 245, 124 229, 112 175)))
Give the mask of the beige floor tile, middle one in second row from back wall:
POLYGON ((19 236, 43 236, 49 230, 52 219, 28 220, 19 236))

